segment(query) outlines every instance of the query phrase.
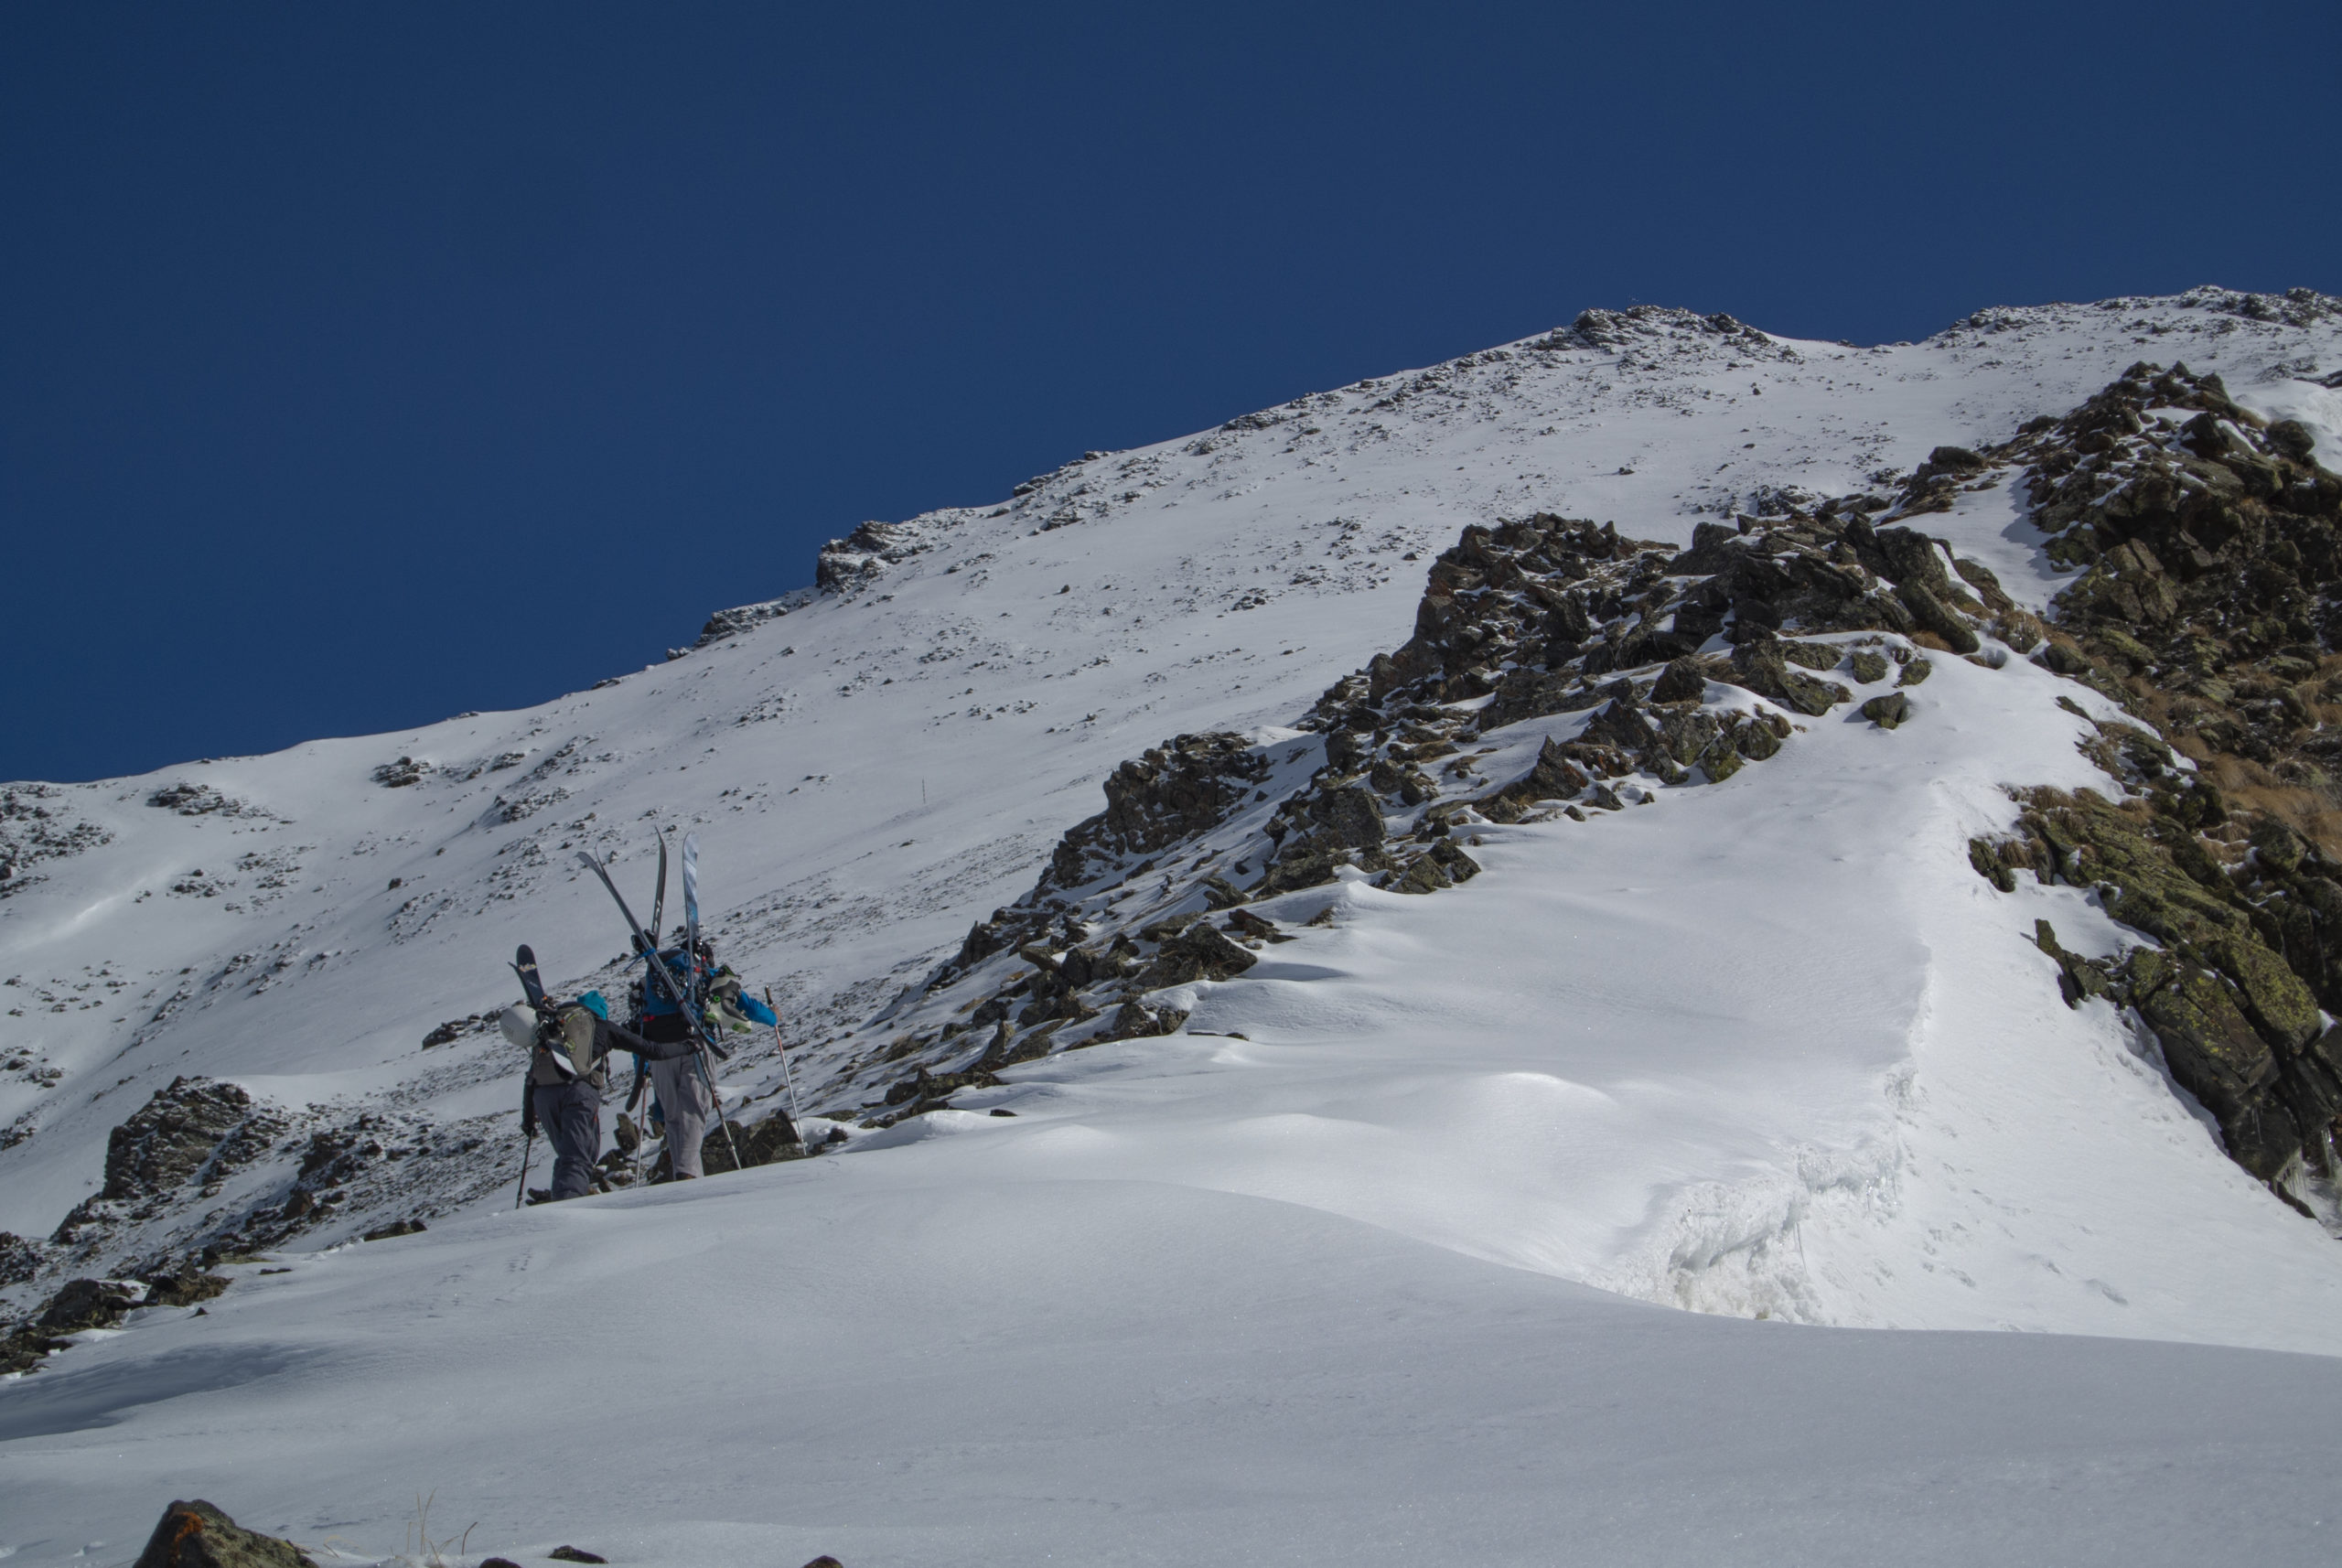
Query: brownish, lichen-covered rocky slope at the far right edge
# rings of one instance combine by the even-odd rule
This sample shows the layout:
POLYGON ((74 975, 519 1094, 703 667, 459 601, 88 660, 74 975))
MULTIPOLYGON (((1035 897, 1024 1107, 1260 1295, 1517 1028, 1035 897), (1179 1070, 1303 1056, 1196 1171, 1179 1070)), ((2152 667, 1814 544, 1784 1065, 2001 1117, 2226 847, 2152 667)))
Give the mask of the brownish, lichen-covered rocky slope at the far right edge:
POLYGON ((2342 1130, 2319 1011, 2342 1011, 2342 480, 2309 431, 2180 365, 2134 365, 1991 456, 2028 468, 2052 559, 2084 569, 2040 662, 2138 723, 2087 747, 2115 798, 2019 791, 2016 833, 1970 859, 2002 889, 2096 887, 2152 938, 2110 962, 2040 931, 2066 999, 2136 1009, 2237 1163, 2300 1205, 2342 1130))

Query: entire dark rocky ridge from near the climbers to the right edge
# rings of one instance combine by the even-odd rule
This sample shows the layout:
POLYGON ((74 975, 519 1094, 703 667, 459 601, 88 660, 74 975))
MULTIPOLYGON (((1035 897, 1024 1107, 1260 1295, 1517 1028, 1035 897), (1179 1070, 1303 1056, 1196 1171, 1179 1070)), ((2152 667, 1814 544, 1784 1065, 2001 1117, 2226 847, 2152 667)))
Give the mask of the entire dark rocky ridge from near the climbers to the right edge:
POLYGON ((1178 1030, 1183 988, 1244 974, 1281 922, 1309 920, 1293 894, 1438 892, 1478 873, 1478 821, 1593 821, 1728 779, 1794 735, 1792 714, 1850 702, 1834 674, 1892 676, 1860 711, 1895 728, 1932 655, 2033 655, 2138 723, 2094 721, 2084 742, 2110 796, 2012 786, 2014 831, 1974 840, 1972 864, 2005 889, 2019 871, 2094 887, 2152 938, 2087 960, 2035 934, 2070 1004, 2134 1009, 2237 1163, 2342 1233, 2337 524, 2342 480, 2302 426, 2141 363, 2002 445, 1937 447, 1890 496, 1700 524, 1682 552, 1550 515, 1468 527, 1429 571, 1415 637, 1297 721, 1314 747, 1187 735, 1124 763, 1108 810, 860 1065, 871 1086, 911 1067, 864 1126, 944 1109, 1005 1065, 1178 1030), (1920 527, 2012 475, 2049 559, 2080 571, 2049 623, 1920 527), (1473 770, 1475 742, 1569 714, 1576 733, 1546 735, 1522 772, 1473 770))

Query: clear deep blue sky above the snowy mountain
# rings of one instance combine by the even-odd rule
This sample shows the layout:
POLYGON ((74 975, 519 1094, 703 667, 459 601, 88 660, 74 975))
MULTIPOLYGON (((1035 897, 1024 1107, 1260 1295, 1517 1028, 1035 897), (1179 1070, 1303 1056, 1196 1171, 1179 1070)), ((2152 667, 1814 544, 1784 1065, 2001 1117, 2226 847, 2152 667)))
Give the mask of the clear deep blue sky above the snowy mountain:
POLYGON ((1581 307, 2342 293, 2335 5, 12 5, 0 779, 515 707, 1581 307))

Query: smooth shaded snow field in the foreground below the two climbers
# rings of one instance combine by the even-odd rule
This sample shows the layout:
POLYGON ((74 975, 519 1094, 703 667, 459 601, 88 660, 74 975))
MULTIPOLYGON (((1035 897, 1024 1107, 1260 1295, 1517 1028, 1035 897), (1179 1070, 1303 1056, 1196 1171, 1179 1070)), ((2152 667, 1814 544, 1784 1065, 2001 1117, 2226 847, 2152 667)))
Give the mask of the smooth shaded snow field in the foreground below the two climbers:
POLYGON ((2342 1362, 1670 1313, 944 1140, 300 1259, 0 1402, 26 1561, 2314 1561, 2342 1362), (159 1397, 176 1395, 176 1397, 159 1397), (136 1505, 131 1502, 136 1500, 136 1505), (328 1559, 330 1561, 330 1559, 328 1559))

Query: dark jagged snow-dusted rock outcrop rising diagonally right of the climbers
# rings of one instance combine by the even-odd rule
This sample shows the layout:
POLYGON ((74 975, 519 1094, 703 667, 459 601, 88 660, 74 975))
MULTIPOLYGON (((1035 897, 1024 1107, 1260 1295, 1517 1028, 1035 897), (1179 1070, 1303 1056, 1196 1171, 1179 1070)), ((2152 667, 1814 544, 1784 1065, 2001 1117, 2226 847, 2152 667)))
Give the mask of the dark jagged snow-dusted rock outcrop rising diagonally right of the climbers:
POLYGON ((1415 637, 1295 728, 1180 735, 1117 768, 1105 810, 890 1009, 892 1039, 831 1102, 892 1126, 1014 1062, 1169 1034, 1190 988, 1330 917, 1312 889, 1454 887, 1480 871, 1478 824, 1595 824, 1731 779, 1855 688, 1895 728, 1932 658, 1986 658, 1979 627, 1998 658, 2042 641, 1991 571, 1897 522, 1981 468, 1937 449, 1902 503, 1700 524, 1689 550, 1553 515, 1466 527, 1429 569, 1415 637), (1518 765, 1482 765, 1529 730, 1518 765))

